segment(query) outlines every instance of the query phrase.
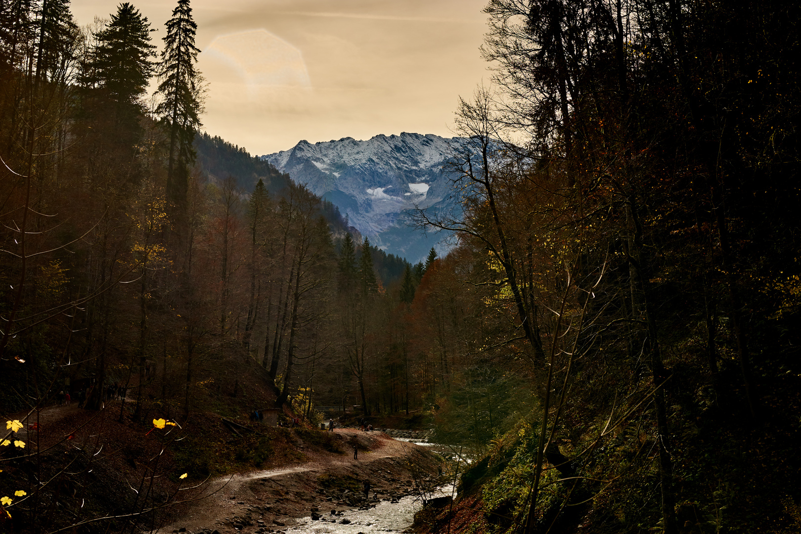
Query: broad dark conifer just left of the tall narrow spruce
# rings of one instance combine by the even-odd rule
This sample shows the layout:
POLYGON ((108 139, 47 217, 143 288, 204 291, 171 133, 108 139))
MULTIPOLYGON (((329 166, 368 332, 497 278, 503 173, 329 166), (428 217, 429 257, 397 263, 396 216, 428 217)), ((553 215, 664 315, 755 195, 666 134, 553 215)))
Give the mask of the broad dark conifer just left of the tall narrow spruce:
POLYGON ((111 22, 97 38, 95 65, 92 76, 97 86, 106 90, 107 97, 116 102, 116 122, 124 130, 139 130, 143 113, 142 95, 153 74, 151 57, 151 26, 147 17, 124 2, 119 5, 111 22))

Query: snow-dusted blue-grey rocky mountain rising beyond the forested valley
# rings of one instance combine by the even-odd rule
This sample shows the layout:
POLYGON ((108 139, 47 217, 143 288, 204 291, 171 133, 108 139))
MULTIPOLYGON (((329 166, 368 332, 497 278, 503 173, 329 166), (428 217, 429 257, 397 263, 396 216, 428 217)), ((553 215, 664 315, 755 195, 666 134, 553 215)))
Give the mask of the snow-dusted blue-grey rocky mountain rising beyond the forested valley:
POLYGON ((453 186, 442 167, 454 143, 438 135, 376 135, 367 141, 301 141, 288 151, 264 155, 313 193, 347 214, 370 243, 415 263, 431 247, 445 250, 445 237, 409 226, 416 207, 429 211, 458 209, 453 186))

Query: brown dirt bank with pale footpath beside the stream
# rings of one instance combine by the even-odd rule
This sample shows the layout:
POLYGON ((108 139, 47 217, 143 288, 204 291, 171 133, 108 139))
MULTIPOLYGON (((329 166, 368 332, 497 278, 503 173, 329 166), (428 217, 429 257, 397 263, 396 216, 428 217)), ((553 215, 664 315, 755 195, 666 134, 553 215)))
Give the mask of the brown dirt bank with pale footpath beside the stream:
POLYGON ((346 512, 412 494, 418 482, 433 480, 440 465, 426 448, 381 432, 344 428, 336 429, 336 437, 344 453, 306 450, 303 463, 211 480, 198 488, 202 494, 194 494, 211 496, 182 505, 159 532, 275 532, 317 513, 321 520, 342 520, 332 510, 346 512), (356 460, 354 444, 359 448, 356 460), (365 481, 370 484, 368 500, 365 481))

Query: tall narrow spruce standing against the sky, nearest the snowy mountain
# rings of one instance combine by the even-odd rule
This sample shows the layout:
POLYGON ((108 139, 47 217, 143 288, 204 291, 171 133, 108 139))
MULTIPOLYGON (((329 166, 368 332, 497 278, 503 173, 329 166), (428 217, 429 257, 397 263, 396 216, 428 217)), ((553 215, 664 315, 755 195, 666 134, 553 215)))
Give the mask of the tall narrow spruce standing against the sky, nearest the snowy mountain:
POLYGON ((155 111, 170 133, 167 196, 180 211, 187 198, 189 167, 195 162, 192 141, 201 126, 199 114, 203 110, 203 78, 195 70, 200 52, 195 46, 197 24, 189 0, 178 1, 165 26, 167 36, 157 66, 163 100, 155 111))

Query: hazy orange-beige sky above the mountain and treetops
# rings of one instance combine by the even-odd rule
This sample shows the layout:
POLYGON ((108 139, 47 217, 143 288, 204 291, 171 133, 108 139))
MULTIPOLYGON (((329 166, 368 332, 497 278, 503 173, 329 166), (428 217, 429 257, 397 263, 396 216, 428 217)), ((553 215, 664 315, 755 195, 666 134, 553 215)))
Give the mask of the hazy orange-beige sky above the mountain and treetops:
MULTIPOLYGON (((74 0, 76 22, 119 2, 74 0)), ((131 2, 161 44, 175 2, 131 2)), ((489 79, 485 0, 192 0, 203 129, 253 155, 377 134, 453 135, 458 96, 489 79)))

